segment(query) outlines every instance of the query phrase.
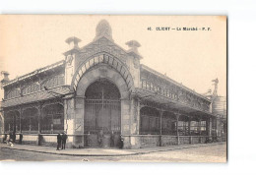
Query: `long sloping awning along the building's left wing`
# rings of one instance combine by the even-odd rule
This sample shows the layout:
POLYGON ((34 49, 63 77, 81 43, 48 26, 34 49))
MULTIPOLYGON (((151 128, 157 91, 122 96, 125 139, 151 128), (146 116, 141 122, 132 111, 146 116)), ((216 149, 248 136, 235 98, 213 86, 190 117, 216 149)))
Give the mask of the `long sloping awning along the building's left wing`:
POLYGON ((58 88, 49 88, 48 90, 41 90, 41 91, 33 92, 28 95, 23 95, 23 96, 12 98, 12 99, 6 99, 1 102, 1 108, 21 105, 26 103, 32 103, 35 101, 41 101, 46 99, 59 98, 70 93, 72 93, 72 91, 67 86, 58 87, 58 88))

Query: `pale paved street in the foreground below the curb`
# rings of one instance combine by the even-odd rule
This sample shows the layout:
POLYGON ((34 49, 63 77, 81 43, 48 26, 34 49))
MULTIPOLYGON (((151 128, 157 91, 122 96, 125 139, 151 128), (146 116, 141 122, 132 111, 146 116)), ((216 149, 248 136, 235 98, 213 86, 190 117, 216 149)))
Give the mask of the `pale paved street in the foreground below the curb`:
POLYGON ((69 156, 0 147, 0 160, 17 161, 121 161, 121 162, 225 162, 225 144, 191 147, 130 156, 69 156))

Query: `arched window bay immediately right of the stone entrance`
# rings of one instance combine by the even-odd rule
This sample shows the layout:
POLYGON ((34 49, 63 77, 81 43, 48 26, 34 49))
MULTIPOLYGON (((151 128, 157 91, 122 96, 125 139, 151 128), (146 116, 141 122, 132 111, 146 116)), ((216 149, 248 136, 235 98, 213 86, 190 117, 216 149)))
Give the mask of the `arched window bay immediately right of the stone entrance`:
POLYGON ((160 112, 151 107, 143 107, 140 114, 140 134, 160 134, 160 112))

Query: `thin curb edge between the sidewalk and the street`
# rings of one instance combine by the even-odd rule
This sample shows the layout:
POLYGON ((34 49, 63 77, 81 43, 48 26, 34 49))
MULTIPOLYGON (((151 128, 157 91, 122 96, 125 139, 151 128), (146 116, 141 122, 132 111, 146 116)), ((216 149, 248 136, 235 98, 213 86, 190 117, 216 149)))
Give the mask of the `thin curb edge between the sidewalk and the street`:
POLYGON ((139 151, 134 153, 127 153, 127 154, 75 154, 75 153, 57 153, 52 151, 41 151, 41 150, 32 150, 32 149, 23 149, 23 148, 13 148, 13 147, 0 147, 0 148, 9 148, 14 150, 24 150, 24 151, 31 151, 31 152, 38 152, 38 153, 47 153, 47 154, 56 154, 56 155, 70 155, 70 156, 129 156, 129 155, 140 155, 140 154, 148 154, 153 152, 161 152, 161 151, 168 151, 168 150, 178 150, 178 149, 185 149, 185 148, 193 148, 193 147, 209 147, 209 146, 218 146, 223 145, 224 143, 216 143, 210 145, 199 145, 199 146, 188 146, 188 147, 174 147, 174 148, 166 148, 166 149, 159 149, 159 150, 152 150, 152 151, 139 151))

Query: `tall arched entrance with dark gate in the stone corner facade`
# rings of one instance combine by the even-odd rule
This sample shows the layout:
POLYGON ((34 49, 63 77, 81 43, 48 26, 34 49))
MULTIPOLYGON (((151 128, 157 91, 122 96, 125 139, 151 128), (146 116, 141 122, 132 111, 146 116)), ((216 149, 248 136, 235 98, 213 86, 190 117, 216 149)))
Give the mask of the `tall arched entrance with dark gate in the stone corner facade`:
POLYGON ((106 79, 91 84, 85 93, 85 147, 118 147, 121 134, 119 89, 106 79))

